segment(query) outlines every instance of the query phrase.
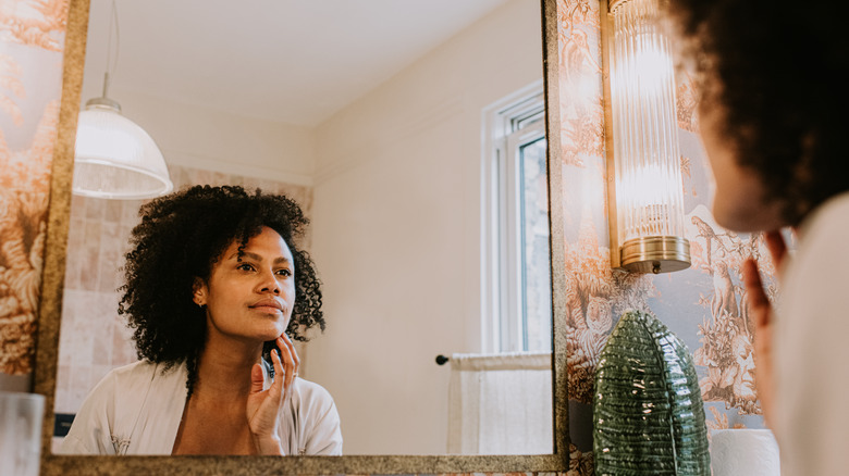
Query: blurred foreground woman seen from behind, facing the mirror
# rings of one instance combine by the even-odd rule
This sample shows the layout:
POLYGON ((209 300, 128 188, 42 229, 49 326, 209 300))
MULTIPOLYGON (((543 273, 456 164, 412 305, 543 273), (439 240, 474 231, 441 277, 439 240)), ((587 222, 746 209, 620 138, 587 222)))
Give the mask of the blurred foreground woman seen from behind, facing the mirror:
POLYGON ((717 223, 765 231, 780 268, 773 312, 756 263, 743 268, 756 321, 758 392, 787 475, 849 468, 849 165, 845 21, 830 8, 766 0, 669 0, 701 78, 700 127, 717 223), (778 230, 798 231, 785 258, 778 230))

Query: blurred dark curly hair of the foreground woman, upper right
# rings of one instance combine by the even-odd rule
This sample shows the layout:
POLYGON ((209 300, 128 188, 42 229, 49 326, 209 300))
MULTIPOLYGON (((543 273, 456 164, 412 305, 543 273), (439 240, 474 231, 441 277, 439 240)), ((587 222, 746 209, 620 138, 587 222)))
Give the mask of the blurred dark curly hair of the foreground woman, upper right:
POLYGON ((761 177, 784 220, 798 225, 849 189, 842 15, 772 0, 665 3, 697 60, 703 100, 723 108, 739 164, 761 177))

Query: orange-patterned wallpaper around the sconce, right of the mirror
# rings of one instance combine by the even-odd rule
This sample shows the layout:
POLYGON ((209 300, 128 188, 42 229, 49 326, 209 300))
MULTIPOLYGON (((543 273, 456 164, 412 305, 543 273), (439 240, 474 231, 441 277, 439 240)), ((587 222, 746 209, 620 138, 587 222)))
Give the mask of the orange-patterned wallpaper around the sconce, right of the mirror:
POLYGON ((693 83, 686 72, 677 78, 685 222, 692 266, 659 276, 612 272, 599 3, 558 0, 557 7, 566 248, 563 291, 569 308, 573 455, 581 461, 592 459, 595 365, 627 308, 653 312, 693 352, 709 428, 761 428, 763 418, 753 387, 752 326, 740 266, 748 256, 758 259, 773 295, 775 270, 759 235, 725 230, 711 216, 710 171, 698 138, 693 83))

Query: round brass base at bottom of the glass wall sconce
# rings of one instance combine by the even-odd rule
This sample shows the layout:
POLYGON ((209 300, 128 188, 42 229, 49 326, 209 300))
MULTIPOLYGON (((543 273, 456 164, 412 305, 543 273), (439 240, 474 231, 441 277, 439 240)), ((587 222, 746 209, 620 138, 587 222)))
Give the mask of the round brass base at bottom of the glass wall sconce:
POLYGON ((690 267, 690 242, 677 236, 635 238, 622 246, 622 267, 633 273, 670 273, 690 267))

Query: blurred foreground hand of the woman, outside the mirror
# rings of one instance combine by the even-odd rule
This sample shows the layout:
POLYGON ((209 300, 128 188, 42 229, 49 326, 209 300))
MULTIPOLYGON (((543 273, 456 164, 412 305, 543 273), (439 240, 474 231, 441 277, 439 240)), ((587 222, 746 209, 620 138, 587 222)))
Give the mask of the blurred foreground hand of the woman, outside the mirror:
MULTIPOLYGON (((780 231, 767 231, 764 235, 766 248, 773 256, 776 270, 782 268, 782 262, 787 255, 787 245, 780 231)), ((754 361, 755 361, 755 387, 758 398, 761 400, 764 423, 771 424, 773 402, 775 396, 774 369, 773 369, 773 306, 763 289, 761 275, 758 273, 758 263, 746 260, 742 268, 746 293, 749 297, 750 312, 754 317, 754 361)))

